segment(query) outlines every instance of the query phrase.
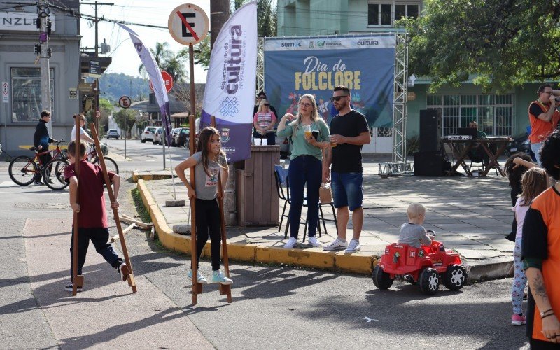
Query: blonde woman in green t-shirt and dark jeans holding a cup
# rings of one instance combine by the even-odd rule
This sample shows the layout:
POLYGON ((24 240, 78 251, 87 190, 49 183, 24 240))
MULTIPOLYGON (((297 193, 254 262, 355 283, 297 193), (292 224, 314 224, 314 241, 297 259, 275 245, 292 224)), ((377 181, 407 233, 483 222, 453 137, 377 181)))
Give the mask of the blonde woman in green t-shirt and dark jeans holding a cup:
POLYGON ((304 94, 300 97, 297 114, 286 114, 278 125, 279 137, 291 137, 293 142, 288 183, 290 183, 290 239, 284 248, 297 246, 297 233, 300 230, 300 218, 307 184, 307 225, 309 225, 309 244, 321 246, 315 237, 318 223, 319 187, 322 182, 323 152, 328 147, 328 126, 317 112, 315 97, 304 94), (286 125, 286 123, 289 123, 286 125), (313 132, 316 137, 314 137, 313 132))

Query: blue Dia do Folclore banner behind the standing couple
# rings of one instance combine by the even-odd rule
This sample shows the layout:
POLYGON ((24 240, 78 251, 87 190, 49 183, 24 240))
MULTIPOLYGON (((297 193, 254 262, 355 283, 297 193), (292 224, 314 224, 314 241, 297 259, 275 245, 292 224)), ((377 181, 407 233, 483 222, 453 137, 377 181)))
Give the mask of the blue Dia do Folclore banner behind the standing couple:
POLYGON ((346 85, 371 127, 392 127, 395 43, 394 34, 265 38, 267 98, 279 114, 295 114, 300 96, 313 94, 330 124, 332 89, 346 85))

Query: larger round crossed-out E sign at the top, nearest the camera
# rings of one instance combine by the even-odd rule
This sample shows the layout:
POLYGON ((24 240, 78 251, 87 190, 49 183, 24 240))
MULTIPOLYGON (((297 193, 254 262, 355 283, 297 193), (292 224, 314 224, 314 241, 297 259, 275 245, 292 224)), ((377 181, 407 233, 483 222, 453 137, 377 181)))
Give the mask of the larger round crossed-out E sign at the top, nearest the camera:
POLYGON ((191 3, 174 8, 167 21, 169 34, 183 45, 195 45, 208 34, 210 22, 204 10, 191 3))

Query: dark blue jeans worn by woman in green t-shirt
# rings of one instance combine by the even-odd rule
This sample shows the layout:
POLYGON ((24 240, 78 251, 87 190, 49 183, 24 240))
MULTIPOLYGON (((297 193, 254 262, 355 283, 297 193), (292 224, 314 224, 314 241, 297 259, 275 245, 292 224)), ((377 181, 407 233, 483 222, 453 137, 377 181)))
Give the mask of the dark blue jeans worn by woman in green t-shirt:
POLYGON ((309 237, 313 237, 317 231, 319 218, 319 188, 323 180, 323 165, 312 155, 300 155, 290 160, 288 168, 288 182, 290 183, 290 237, 297 238, 300 230, 300 219, 302 217, 303 190, 307 183, 307 225, 309 225, 309 237))

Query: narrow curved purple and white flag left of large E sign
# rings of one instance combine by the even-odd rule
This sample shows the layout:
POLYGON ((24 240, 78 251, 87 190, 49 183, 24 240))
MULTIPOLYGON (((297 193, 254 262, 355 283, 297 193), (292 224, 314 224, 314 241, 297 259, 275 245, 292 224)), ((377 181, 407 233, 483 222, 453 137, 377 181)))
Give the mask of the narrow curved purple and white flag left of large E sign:
MULTIPOLYGON (((160 112, 162 113, 162 123, 165 129, 165 137, 167 140, 171 140, 169 97, 167 97, 167 90, 165 88, 165 82, 162 78, 162 73, 160 72, 160 67, 157 63, 155 63, 152 52, 144 46, 144 43, 142 43, 138 34, 125 25, 121 25, 120 23, 118 23, 118 25, 130 34, 130 39, 134 44, 134 48, 136 49, 142 64, 144 64, 144 68, 146 68, 146 72, 148 73, 150 80, 152 80, 153 93, 155 95, 155 99, 158 101, 158 106, 160 106, 160 112)), ((168 145, 171 145, 171 141, 169 141, 168 145)))

